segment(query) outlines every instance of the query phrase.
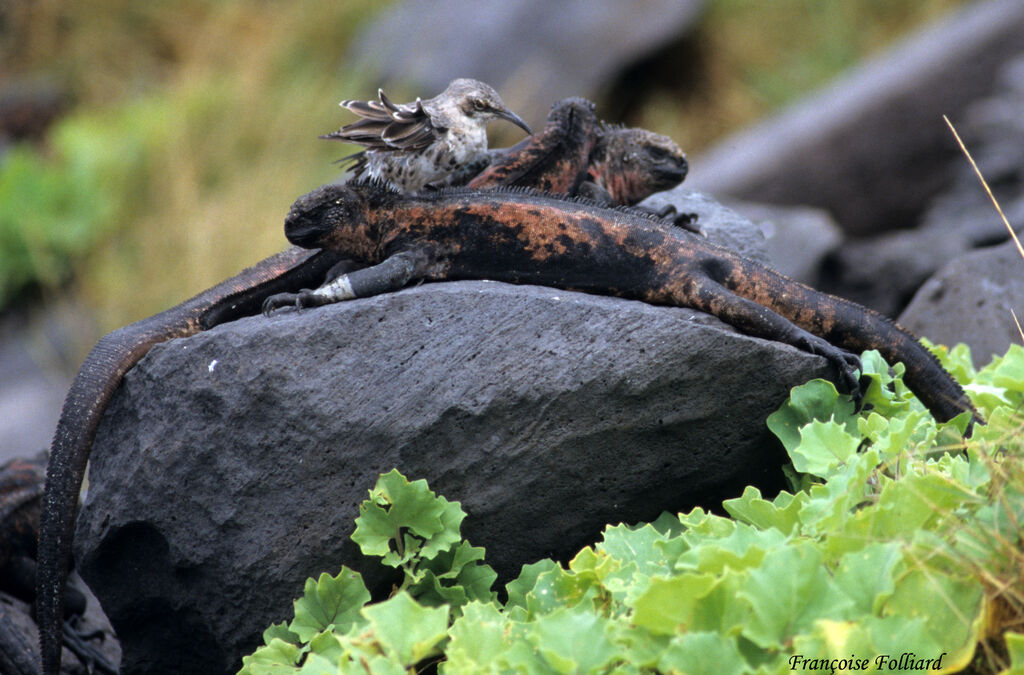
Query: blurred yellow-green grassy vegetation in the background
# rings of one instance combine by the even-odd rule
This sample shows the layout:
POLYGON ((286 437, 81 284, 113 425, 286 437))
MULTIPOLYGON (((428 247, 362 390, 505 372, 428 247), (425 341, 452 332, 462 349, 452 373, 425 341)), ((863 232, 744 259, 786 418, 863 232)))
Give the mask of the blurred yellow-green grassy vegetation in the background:
MULTIPOLYGON (((71 296, 94 317, 84 351, 285 248, 289 205, 337 179, 348 150, 317 134, 348 121, 338 100, 376 91, 343 56, 387 4, 0 3, 0 82, 70 101, 41 142, 0 145, 0 311, 71 296)), ((709 0, 690 39, 609 83, 599 114, 692 157, 961 4, 709 0)))

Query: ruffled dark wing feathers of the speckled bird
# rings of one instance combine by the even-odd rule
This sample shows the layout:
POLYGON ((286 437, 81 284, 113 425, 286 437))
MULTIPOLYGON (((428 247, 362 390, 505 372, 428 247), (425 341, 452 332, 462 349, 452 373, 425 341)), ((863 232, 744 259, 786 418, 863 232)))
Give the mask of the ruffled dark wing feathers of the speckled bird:
POLYGON ((415 103, 394 103, 384 93, 376 100, 343 100, 341 107, 359 119, 321 138, 344 140, 372 150, 417 151, 447 131, 434 124, 419 98, 415 103))

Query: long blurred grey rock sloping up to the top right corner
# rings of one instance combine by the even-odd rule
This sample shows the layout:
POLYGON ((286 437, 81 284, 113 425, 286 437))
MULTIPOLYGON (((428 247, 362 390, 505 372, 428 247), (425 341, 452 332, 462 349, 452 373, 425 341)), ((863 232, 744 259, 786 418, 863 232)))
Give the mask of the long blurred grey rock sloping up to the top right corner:
POLYGON ((828 210, 850 234, 906 227, 948 179, 958 150, 942 122, 996 85, 1021 48, 1024 3, 952 12, 776 117, 692 162, 719 197, 828 210))

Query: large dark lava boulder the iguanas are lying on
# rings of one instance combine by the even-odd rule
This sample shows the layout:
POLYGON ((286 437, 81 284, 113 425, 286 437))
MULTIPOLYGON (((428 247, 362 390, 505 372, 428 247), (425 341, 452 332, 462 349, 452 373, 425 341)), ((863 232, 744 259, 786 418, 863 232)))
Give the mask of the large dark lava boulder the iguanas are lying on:
POLYGON ((503 581, 606 523, 773 494, 765 418, 824 360, 688 309, 492 282, 256 317, 153 348, 100 426, 76 549, 123 671, 232 672, 342 564, 381 472, 462 502, 503 581))

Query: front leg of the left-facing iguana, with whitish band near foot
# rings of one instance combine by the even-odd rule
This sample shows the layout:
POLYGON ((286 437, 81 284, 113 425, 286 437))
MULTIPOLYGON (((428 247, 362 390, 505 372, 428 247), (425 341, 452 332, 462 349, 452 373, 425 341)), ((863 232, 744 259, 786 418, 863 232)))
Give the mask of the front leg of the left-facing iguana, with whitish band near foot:
POLYGON ((263 313, 269 314, 279 307, 315 307, 397 291, 414 280, 423 279, 429 259, 421 251, 395 253, 372 267, 340 273, 315 290, 271 295, 263 301, 263 313))

